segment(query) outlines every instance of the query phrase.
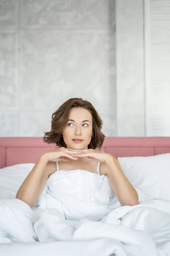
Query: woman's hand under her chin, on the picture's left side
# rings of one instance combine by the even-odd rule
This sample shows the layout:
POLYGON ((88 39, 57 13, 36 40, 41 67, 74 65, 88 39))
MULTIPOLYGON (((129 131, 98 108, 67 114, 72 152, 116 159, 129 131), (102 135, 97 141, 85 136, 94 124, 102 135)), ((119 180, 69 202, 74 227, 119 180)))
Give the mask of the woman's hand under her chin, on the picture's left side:
POLYGON ((61 147, 61 148, 48 151, 44 153, 43 156, 47 158, 47 161, 51 161, 51 162, 57 162, 57 161, 69 162, 69 158, 73 160, 77 160, 78 158, 76 155, 79 155, 82 152, 83 152, 82 150, 75 150, 73 152, 68 148, 61 147))

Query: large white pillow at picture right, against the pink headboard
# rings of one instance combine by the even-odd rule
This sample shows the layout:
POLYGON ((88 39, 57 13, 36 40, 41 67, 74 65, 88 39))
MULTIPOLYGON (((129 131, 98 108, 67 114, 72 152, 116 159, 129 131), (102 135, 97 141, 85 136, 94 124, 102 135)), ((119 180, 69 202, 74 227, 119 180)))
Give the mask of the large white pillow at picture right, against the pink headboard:
POLYGON ((150 197, 170 200, 170 153, 151 157, 118 157, 130 183, 150 197))

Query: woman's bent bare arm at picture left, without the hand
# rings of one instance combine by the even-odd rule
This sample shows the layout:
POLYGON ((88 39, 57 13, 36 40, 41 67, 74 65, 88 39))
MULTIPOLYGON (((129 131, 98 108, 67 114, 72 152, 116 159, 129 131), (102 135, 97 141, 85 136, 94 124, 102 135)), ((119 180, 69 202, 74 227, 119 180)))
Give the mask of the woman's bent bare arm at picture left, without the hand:
POLYGON ((48 177, 55 171, 56 164, 48 162, 47 157, 42 155, 20 186, 16 198, 33 207, 45 188, 48 177))

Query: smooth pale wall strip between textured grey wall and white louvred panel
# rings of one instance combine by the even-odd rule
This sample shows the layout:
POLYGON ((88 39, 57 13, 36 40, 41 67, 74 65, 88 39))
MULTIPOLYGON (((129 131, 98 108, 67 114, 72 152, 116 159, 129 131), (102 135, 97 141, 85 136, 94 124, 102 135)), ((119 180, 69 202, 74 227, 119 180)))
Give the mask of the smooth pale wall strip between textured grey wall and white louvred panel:
POLYGON ((144 136, 143 0, 116 1, 118 136, 144 136))

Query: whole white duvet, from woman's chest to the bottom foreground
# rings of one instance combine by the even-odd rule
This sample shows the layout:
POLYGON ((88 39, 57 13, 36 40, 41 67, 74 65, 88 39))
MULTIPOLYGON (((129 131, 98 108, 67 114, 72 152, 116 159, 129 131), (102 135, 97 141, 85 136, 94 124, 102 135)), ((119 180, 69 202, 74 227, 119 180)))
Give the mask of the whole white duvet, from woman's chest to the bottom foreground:
POLYGON ((36 207, 0 201, 0 255, 170 255, 170 201, 139 199, 120 207, 106 176, 55 172, 36 207))

